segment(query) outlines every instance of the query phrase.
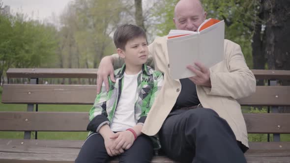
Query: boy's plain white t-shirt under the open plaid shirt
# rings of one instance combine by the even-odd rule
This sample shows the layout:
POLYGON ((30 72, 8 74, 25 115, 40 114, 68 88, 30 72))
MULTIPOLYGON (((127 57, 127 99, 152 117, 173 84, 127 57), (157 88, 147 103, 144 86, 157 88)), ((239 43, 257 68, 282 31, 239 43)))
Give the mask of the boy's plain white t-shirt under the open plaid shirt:
POLYGON ((137 120, 135 119, 135 103, 138 98, 136 93, 139 74, 127 75, 124 72, 121 96, 110 126, 114 132, 125 131, 137 124, 137 120))

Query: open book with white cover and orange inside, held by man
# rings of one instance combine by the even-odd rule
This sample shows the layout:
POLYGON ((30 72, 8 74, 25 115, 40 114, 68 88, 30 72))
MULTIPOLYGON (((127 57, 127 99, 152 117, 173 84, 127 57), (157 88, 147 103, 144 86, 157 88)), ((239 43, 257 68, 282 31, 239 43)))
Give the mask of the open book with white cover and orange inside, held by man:
MULTIPOLYGON (((207 19, 197 32, 170 30, 167 39, 170 74, 173 79, 196 76, 186 66, 201 62, 210 68, 224 59, 225 23, 207 19)), ((196 67, 196 66, 195 66, 196 67)), ((196 67, 197 68, 197 67, 196 67)))

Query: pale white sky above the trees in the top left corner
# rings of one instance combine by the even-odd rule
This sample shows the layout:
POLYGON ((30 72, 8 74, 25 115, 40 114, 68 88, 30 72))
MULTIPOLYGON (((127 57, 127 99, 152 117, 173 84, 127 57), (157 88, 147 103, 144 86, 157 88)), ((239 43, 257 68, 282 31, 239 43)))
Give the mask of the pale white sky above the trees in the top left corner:
POLYGON ((68 2, 71 0, 0 0, 3 6, 9 5, 10 12, 21 12, 27 14, 32 19, 50 19, 52 13, 59 16, 68 2))

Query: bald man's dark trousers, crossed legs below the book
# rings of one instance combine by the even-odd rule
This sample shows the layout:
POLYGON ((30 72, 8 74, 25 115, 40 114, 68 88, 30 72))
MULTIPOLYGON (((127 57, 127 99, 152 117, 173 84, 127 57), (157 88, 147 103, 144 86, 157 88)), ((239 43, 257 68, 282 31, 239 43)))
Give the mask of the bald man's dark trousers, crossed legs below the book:
POLYGON ((229 124, 212 109, 172 111, 159 136, 163 152, 180 163, 246 163, 229 124))

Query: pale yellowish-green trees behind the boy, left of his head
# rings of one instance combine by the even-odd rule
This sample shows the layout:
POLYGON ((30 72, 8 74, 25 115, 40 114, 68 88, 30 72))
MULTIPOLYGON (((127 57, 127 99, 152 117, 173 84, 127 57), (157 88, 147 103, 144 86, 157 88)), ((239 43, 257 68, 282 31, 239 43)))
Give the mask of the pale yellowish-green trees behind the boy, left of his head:
POLYGON ((115 52, 110 35, 120 20, 119 0, 74 0, 60 17, 59 63, 64 68, 97 68, 115 52))

